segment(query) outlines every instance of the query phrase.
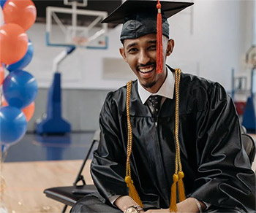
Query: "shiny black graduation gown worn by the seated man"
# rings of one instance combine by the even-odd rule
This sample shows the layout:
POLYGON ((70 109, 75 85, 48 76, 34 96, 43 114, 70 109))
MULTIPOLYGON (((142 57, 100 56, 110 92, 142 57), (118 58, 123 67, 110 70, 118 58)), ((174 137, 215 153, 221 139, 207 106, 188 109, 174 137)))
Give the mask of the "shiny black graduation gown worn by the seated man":
MULTIPOLYGON (((108 94, 99 117, 101 139, 91 175, 103 198, 128 195, 126 86, 108 94)), ((175 169, 175 97, 166 98, 154 120, 132 82, 132 179, 144 206, 168 208, 175 169)), ((219 83, 181 74, 179 142, 184 186, 219 208, 255 211, 255 174, 241 144, 233 101, 219 83)))

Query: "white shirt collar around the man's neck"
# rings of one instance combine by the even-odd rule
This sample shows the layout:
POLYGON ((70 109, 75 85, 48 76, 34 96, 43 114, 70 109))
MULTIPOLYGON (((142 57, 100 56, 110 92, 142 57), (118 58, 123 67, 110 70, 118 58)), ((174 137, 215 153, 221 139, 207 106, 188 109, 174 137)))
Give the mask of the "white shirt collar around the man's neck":
POLYGON ((162 84, 161 88, 157 91, 157 93, 150 93, 148 90, 143 88, 142 85, 140 85, 140 81, 138 80, 138 93, 140 96, 140 100, 143 104, 147 101, 149 96, 163 96, 165 98, 173 99, 173 90, 174 90, 174 77, 173 72, 170 71, 169 68, 167 68, 167 77, 165 79, 165 82, 162 84))

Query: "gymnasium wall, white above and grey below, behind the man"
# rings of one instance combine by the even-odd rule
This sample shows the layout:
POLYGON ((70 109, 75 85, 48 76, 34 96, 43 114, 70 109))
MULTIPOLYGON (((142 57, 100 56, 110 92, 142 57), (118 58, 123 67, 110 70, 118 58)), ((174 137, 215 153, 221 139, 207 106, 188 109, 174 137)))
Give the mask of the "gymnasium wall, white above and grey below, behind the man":
MULTIPOLYGON (((170 37, 176 45, 167 63, 181 71, 220 82, 230 90, 231 69, 237 72, 244 69, 244 54, 252 44, 255 1, 194 2, 193 8, 169 20, 170 37)), ((78 49, 60 66, 63 115, 72 123, 73 131, 96 129, 99 110, 108 91, 135 79, 118 53, 120 30, 118 26, 109 31, 108 50, 78 49), (115 69, 106 64, 116 65, 115 69)), ((35 50, 26 70, 34 74, 39 83, 36 112, 28 128, 33 131, 35 120, 45 111, 53 58, 64 47, 46 47, 44 24, 34 24, 28 34, 35 50)))

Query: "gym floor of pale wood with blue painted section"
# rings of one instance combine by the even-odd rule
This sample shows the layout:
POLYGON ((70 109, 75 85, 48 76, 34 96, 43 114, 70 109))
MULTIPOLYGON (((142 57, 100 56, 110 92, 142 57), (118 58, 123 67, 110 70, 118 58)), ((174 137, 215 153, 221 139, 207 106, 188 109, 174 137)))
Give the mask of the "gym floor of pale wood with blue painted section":
MULTIPOLYGON (((12 213, 61 212, 64 205, 47 198, 43 190, 72 185, 93 135, 94 132, 67 136, 26 134, 18 144, 10 147, 2 163, 4 182, 1 182, 0 207, 12 213)), ((255 134, 251 135, 256 139, 255 134)), ((88 184, 92 184, 90 163, 88 160, 83 170, 88 184)), ((256 170, 256 163, 252 169, 256 170)))

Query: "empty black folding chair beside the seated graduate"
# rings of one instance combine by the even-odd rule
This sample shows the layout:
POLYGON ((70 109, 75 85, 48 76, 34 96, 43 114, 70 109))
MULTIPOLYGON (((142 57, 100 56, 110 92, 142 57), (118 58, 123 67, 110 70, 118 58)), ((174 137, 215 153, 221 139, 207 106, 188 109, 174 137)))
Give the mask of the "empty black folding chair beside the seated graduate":
POLYGON ((78 176, 76 177, 75 182, 72 186, 51 187, 44 190, 44 193, 48 198, 52 198, 53 200, 65 204, 62 212, 66 211, 67 206, 74 206, 75 203, 80 200, 80 198, 83 198, 84 195, 97 191, 94 185, 86 185, 86 182, 82 175, 83 168, 86 165, 86 161, 88 160, 89 155, 91 154, 91 151, 93 150, 94 144, 96 142, 99 142, 99 130, 94 133, 89 151, 86 154, 86 158, 83 160, 80 171, 78 172, 78 176), (78 182, 80 181, 83 183, 83 185, 78 185, 78 182))

